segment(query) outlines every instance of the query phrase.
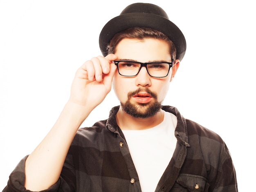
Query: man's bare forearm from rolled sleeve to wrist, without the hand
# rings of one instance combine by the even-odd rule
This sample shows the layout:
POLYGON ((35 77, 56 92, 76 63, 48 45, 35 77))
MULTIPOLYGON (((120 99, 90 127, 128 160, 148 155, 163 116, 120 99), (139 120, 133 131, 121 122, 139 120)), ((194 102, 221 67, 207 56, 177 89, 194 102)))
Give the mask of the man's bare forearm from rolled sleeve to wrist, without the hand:
POLYGON ((27 190, 45 190, 58 181, 74 135, 91 112, 83 110, 67 103, 53 128, 29 155, 25 164, 27 190))

